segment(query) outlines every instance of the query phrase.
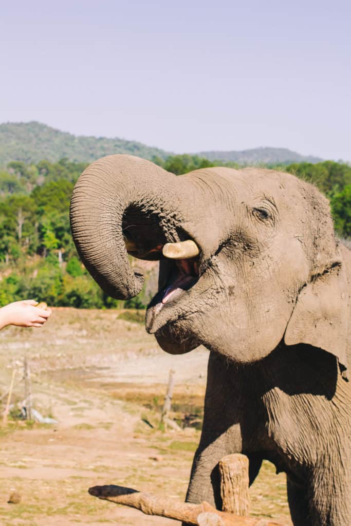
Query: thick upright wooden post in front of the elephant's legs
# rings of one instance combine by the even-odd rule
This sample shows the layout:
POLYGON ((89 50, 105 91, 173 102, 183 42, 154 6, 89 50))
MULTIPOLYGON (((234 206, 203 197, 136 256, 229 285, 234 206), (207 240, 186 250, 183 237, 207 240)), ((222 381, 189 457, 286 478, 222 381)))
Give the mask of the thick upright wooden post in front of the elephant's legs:
POLYGON ((248 458, 234 453, 219 462, 222 510, 243 517, 249 512, 248 458))

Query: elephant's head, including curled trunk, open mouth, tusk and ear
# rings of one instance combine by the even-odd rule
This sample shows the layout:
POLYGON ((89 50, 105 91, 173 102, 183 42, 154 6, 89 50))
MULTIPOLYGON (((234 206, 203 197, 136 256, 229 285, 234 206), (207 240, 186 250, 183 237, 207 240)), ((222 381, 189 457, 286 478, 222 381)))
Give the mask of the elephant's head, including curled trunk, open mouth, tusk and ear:
POLYGON ((327 200, 274 170, 205 168, 176 177, 112 155, 90 165, 71 201, 73 238, 110 296, 143 286, 128 254, 159 260, 146 328, 167 352, 200 344, 246 363, 308 343, 346 369, 348 284, 327 200))

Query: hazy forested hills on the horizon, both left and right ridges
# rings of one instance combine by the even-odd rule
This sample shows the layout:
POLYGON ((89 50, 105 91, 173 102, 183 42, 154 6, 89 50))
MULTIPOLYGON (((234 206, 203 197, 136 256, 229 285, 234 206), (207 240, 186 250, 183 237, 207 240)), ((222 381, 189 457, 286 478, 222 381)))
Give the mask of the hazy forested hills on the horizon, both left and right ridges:
MULTIPOLYGON (((0 168, 10 161, 37 164, 46 159, 56 163, 66 158, 74 163, 91 163, 110 154, 131 154, 145 159, 165 159, 169 153, 132 140, 106 137, 75 136, 45 124, 0 124, 0 168)), ((240 165, 318 163, 317 157, 303 156, 286 148, 254 148, 243 151, 203 151, 198 154, 209 160, 232 161, 240 165)))

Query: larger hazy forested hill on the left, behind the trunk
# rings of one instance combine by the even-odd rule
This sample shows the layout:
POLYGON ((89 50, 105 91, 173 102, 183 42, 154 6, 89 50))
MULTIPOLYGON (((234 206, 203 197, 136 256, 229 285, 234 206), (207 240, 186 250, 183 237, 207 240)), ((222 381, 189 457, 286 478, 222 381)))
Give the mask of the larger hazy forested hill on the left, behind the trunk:
POLYGON ((75 163, 91 163, 110 154, 131 154, 145 159, 155 155, 165 159, 169 155, 133 140, 75 136, 35 121, 0 124, 1 168, 14 160, 37 164, 42 159, 55 163, 66 158, 75 163))

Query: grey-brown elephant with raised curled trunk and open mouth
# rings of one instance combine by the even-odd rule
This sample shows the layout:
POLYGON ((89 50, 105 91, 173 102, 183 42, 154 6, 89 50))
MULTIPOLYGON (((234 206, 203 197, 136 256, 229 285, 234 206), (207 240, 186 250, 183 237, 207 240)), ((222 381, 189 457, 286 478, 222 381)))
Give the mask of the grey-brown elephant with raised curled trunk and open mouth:
POLYGON ((159 261, 146 330, 168 353, 209 350, 186 500, 221 508, 219 460, 287 476, 295 526, 351 520, 351 253, 327 199, 294 175, 212 167, 175 176, 111 155, 71 200, 79 256, 113 298, 138 294, 128 255, 159 261))

